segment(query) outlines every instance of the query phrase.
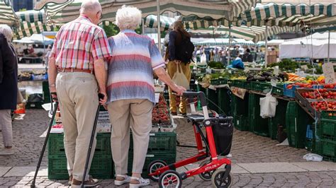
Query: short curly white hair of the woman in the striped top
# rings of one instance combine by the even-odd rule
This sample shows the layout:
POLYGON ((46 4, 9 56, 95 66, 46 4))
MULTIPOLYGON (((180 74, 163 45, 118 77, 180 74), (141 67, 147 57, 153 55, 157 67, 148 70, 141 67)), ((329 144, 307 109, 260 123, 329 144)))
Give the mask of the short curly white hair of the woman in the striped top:
POLYGON ((116 14, 116 25, 121 30, 130 29, 135 30, 141 23, 142 13, 133 6, 122 6, 118 9, 116 14))

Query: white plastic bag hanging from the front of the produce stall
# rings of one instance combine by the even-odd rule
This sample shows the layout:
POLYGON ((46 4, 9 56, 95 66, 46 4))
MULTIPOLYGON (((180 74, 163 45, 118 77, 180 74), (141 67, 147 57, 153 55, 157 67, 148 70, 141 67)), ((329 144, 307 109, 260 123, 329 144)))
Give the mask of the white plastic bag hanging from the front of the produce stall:
POLYGON ((262 118, 274 117, 276 105, 278 101, 274 98, 271 93, 267 93, 266 97, 260 98, 260 116, 262 118))

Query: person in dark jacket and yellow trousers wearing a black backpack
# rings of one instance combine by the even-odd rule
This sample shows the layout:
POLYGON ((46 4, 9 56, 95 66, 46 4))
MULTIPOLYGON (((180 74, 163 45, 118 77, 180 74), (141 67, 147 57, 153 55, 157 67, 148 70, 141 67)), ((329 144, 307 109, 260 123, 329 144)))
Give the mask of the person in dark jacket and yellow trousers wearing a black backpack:
MULTIPOLYGON (((186 44, 184 40, 189 40, 190 34, 184 30, 184 25, 181 21, 175 21, 172 25, 173 30, 169 33, 169 43, 166 58, 169 59, 167 64, 167 71, 170 78, 173 78, 175 72, 177 72, 177 67, 181 64, 181 71, 186 76, 190 82, 191 70, 189 67, 190 59, 186 60, 185 57, 181 54, 181 51, 184 49, 182 45, 186 44)), ((172 89, 169 88, 169 107, 170 112, 173 115, 177 115, 177 101, 176 95, 172 93, 172 89)), ((186 98, 182 98, 179 103, 179 113, 182 115, 186 114, 186 98)))

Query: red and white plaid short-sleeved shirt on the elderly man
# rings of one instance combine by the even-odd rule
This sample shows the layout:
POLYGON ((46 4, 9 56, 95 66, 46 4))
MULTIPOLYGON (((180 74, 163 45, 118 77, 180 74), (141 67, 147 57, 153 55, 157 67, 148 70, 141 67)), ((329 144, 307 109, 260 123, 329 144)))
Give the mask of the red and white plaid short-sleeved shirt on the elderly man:
POLYGON ((94 60, 111 56, 105 32, 86 16, 63 25, 50 52, 59 69, 94 70, 94 60))

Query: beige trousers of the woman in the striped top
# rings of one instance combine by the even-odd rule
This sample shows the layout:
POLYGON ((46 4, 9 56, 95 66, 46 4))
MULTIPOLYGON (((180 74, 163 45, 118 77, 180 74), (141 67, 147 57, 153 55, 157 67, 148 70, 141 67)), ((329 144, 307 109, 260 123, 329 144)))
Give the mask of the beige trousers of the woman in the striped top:
POLYGON ((128 173, 128 149, 130 128, 133 134, 133 173, 142 173, 145 163, 150 131, 152 129, 150 100, 116 100, 108 104, 112 124, 111 148, 116 175, 128 173))

